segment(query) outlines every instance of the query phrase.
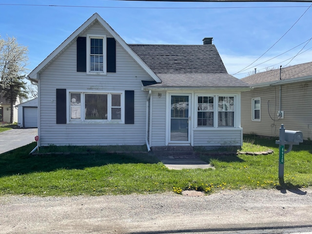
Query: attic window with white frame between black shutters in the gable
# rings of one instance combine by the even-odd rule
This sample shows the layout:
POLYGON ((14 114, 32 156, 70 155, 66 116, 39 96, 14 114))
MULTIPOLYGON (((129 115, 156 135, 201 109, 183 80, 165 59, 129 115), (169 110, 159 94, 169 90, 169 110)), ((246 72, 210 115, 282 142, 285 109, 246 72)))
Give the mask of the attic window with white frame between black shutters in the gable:
POLYGON ((87 35, 87 73, 106 74, 106 36, 87 35))

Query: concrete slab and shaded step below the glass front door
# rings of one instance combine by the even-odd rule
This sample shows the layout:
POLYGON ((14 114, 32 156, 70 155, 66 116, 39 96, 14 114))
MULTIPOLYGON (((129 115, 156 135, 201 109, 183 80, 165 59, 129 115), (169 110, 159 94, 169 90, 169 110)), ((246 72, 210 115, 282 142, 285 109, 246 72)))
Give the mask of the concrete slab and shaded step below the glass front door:
POLYGON ((169 169, 213 168, 199 158, 192 146, 152 147, 152 152, 169 169))

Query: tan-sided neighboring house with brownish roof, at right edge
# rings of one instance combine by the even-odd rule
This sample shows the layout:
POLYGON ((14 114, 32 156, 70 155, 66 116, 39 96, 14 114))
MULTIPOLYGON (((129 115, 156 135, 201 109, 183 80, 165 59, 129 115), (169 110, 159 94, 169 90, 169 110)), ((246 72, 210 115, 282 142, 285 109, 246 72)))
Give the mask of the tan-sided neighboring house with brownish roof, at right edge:
POLYGON ((302 131, 312 138, 312 62, 261 72, 241 80, 252 85, 243 92, 244 134, 279 136, 279 128, 302 131))

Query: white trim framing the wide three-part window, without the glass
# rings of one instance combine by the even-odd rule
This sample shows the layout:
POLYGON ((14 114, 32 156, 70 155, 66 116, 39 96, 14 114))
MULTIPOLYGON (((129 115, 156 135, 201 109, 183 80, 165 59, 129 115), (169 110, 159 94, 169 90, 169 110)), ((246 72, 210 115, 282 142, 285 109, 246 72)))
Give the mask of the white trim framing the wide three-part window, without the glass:
POLYGON ((125 103, 124 103, 124 91, 77 91, 77 90, 68 90, 67 92, 67 123, 107 123, 107 124, 124 124, 125 122, 125 103), (85 119, 84 111, 80 111, 80 119, 72 119, 71 118, 71 102, 70 102, 70 94, 71 93, 79 93, 80 94, 80 108, 84 109, 85 103, 85 94, 107 94, 107 119, 85 119), (120 105, 121 105, 121 119, 112 119, 112 94, 120 94, 120 105))

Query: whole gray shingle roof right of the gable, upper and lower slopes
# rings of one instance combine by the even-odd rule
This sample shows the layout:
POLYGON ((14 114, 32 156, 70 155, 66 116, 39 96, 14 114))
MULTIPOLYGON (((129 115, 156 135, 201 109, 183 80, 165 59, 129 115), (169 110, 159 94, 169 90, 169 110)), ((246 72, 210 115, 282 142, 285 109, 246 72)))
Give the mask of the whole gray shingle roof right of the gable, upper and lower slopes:
POLYGON ((227 73, 214 44, 129 46, 162 80, 150 87, 250 86, 227 73))

